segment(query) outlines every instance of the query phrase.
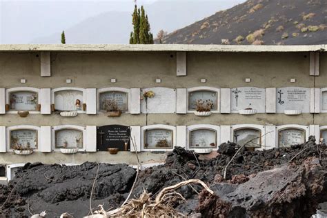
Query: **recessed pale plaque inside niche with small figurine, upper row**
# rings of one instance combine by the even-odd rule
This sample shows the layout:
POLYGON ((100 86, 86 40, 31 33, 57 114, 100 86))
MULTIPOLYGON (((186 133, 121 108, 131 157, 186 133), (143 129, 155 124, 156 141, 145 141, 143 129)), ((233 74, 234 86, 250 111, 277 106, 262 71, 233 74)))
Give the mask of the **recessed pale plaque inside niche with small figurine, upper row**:
POLYGON ((54 92, 54 107, 56 110, 71 111, 82 110, 83 92, 78 90, 63 90, 54 92), (76 101, 79 100, 80 107, 76 106, 76 101))

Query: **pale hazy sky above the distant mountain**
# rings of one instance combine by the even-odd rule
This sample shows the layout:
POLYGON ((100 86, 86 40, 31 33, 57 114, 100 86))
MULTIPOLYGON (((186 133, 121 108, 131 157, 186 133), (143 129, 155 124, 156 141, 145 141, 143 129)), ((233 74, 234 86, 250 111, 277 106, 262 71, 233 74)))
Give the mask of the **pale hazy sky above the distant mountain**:
MULTIPOLYGON (((186 4, 190 2, 190 0, 138 0, 137 5, 147 6, 158 1, 171 4, 172 10, 177 1, 186 4)), ((202 0, 191 1, 199 2, 201 5, 202 0)), ((245 0, 212 1, 221 3, 221 8, 226 9, 245 0)), ((134 4, 133 0, 0 0, 0 43, 30 43, 36 38, 48 37, 105 12, 132 12, 134 4)), ((206 5, 203 4, 203 7, 206 5)), ((212 9, 212 12, 214 11, 217 10, 212 9)), ((192 22, 194 21, 190 21, 192 22)))

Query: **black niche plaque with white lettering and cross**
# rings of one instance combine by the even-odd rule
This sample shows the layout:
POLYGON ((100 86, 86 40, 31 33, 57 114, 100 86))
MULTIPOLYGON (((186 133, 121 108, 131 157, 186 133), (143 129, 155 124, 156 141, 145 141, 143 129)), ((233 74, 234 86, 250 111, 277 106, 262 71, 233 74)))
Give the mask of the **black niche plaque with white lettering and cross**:
POLYGON ((119 151, 130 150, 130 127, 108 125, 97 128, 97 150, 108 151, 108 148, 118 148, 119 151))

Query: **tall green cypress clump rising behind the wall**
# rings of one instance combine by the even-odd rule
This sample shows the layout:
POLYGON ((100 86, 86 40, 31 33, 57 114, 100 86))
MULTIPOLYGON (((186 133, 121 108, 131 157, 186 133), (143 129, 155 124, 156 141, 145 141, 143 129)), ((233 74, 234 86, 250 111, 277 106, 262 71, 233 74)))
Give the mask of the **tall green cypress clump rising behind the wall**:
POLYGON ((153 35, 150 32, 150 23, 148 15, 141 6, 141 9, 135 5, 132 14, 133 31, 130 33, 130 44, 153 44, 153 35))

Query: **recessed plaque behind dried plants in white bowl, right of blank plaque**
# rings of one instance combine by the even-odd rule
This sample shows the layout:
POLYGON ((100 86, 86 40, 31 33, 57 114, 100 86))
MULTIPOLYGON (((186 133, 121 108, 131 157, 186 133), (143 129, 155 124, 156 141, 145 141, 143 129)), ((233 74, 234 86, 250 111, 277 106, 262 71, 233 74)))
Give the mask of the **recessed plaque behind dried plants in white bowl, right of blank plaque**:
POLYGON ((196 102, 199 100, 206 101, 210 100, 213 103, 211 110, 217 110, 217 92, 199 90, 188 93, 188 110, 195 110, 196 102))

